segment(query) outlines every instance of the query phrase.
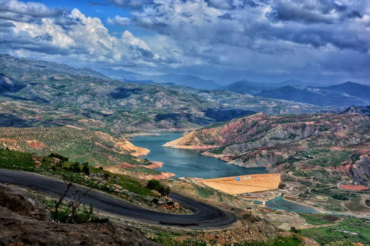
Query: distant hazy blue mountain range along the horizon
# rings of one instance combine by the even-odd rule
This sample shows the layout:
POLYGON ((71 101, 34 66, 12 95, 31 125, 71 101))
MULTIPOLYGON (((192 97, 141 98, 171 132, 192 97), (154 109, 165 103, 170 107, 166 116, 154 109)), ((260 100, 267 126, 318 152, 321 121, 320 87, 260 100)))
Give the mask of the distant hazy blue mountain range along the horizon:
POLYGON ((250 94, 271 99, 308 103, 317 106, 337 106, 341 108, 351 105, 364 106, 370 104, 370 87, 347 81, 340 85, 322 87, 318 83, 301 80, 284 80, 280 83, 255 83, 246 79, 226 86, 219 86, 213 80, 202 79, 194 75, 165 74, 140 75, 125 70, 104 68, 104 72, 112 78, 123 79, 126 83, 181 85, 195 89, 223 90, 239 94, 250 94))

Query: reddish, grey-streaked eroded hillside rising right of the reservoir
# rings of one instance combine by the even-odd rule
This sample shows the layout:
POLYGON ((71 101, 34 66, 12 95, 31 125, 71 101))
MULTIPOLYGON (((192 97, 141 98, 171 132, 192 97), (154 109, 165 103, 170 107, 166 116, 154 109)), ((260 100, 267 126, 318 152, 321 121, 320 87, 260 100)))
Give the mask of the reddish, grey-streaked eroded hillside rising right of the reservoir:
POLYGON ((330 167, 368 185, 369 130, 370 118, 360 114, 258 113, 192 131, 164 146, 206 149, 203 154, 235 165, 279 170, 290 168, 284 163, 312 158, 310 165, 330 167), (349 166, 340 170, 345 163, 349 166))

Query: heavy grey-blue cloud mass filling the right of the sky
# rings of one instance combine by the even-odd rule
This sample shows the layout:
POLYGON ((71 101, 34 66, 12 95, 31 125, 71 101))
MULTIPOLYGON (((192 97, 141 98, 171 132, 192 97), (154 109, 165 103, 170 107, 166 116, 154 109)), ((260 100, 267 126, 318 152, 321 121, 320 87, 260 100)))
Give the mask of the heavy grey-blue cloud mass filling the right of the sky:
MULTIPOLYGON (((124 2, 120 7, 130 8, 124 2)), ((365 0, 149 2, 139 1, 131 11, 134 23, 155 30, 158 35, 147 38, 151 46, 165 39, 162 54, 184 66, 329 73, 339 66, 332 62, 335 57, 351 54, 352 60, 370 61, 370 3, 365 0)), ((349 73, 362 69, 358 62, 352 65, 349 73)))

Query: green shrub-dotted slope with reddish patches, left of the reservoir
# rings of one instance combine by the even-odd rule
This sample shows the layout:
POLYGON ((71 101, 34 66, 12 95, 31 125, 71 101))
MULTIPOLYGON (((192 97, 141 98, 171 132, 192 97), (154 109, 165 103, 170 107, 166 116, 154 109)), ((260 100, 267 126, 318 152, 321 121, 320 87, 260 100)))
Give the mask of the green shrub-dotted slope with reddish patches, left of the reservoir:
POLYGON ((120 162, 140 164, 129 152, 116 151, 115 144, 119 140, 90 130, 69 127, 0 128, 0 138, 3 138, 3 145, 10 149, 42 155, 58 152, 68 156, 71 161, 88 161, 93 166, 120 162), (16 143, 12 143, 12 140, 16 143))

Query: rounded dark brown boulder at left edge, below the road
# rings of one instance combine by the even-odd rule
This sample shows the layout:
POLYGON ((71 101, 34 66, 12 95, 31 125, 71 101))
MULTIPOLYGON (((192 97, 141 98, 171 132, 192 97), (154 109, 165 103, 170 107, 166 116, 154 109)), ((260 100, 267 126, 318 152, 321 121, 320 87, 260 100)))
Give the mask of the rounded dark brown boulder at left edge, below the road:
POLYGON ((0 184, 0 206, 36 220, 50 221, 45 204, 24 190, 0 184))

